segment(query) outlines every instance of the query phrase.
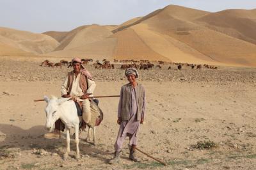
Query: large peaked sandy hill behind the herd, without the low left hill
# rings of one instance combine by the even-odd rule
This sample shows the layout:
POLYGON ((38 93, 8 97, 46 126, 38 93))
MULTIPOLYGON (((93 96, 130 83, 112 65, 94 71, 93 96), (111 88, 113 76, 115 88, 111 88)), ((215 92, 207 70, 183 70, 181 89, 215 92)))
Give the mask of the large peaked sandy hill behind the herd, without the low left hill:
MULTIPOLYGON (((255 18, 255 10, 225 10, 210 13, 170 5, 145 17, 128 20, 119 26, 106 27, 114 33, 110 36, 108 33, 104 34, 107 39, 116 38, 115 43, 109 44, 113 52, 109 52, 106 46, 95 47, 105 44, 104 38, 102 40, 96 38, 99 41, 87 43, 88 39, 82 38, 84 33, 80 33, 83 32, 80 28, 71 31, 72 36, 64 38, 56 49, 60 51, 51 52, 49 56, 70 56, 73 53, 77 56, 97 58, 99 54, 106 53, 108 59, 149 59, 177 63, 255 66, 256 46, 255 31, 253 31, 255 18), (74 36, 73 32, 79 36, 74 36), (74 43, 72 43, 73 38, 74 43), (80 43, 86 45, 78 47, 80 43), (68 45, 72 49, 68 49, 68 45), (66 47, 68 50, 63 50, 66 47), (102 52, 96 52, 99 50, 102 52)), ((93 29, 93 32, 99 34, 100 31, 93 29)), ((90 36, 86 37, 90 39, 90 36)))

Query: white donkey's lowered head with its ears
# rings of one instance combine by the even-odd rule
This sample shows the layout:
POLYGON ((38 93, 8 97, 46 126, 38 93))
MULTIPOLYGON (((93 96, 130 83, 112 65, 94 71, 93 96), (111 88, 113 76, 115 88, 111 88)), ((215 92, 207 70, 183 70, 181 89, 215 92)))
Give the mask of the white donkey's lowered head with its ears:
POLYGON ((70 98, 56 98, 52 97, 51 99, 47 96, 44 96, 44 100, 47 103, 45 107, 45 113, 46 113, 46 123, 45 127, 52 132, 55 128, 55 121, 57 121, 61 116, 60 111, 60 105, 63 104, 63 102, 66 102, 70 98))

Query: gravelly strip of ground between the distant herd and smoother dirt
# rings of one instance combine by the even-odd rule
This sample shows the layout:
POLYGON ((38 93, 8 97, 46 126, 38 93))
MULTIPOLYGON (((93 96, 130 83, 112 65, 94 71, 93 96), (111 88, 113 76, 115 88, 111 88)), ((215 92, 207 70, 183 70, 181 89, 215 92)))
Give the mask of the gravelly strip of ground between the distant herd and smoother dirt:
MULTIPOLYGON (((49 68, 40 66, 40 62, 1 60, 0 80, 10 81, 58 81, 62 80, 72 68, 49 68)), ((124 70, 119 69, 120 64, 115 64, 116 69, 99 70, 92 65, 86 65, 95 81, 120 81, 124 80, 124 70)), ((191 69, 183 66, 178 70, 175 65, 163 65, 162 69, 140 70, 140 81, 171 81, 171 82, 216 82, 234 83, 244 82, 256 84, 255 68, 239 68, 219 66, 218 70, 203 68, 191 69), (168 70, 171 66, 171 70, 168 70)))

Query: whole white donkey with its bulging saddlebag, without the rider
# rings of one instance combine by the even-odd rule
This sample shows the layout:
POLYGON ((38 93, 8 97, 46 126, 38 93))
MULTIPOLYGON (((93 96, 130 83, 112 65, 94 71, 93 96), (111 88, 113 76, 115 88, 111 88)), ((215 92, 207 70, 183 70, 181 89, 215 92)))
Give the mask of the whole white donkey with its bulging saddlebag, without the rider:
MULTIPOLYGON (((45 107, 46 112, 46 123, 45 127, 49 130, 49 132, 52 132, 54 130, 55 122, 60 119, 66 128, 66 135, 67 135, 67 151, 63 155, 63 159, 67 160, 68 154, 70 152, 70 129, 75 128, 75 141, 76 141, 76 158, 80 158, 79 155, 79 123, 84 122, 82 116, 77 116, 77 107, 73 100, 70 100, 70 98, 56 98, 52 97, 51 99, 47 96, 44 96, 44 100, 47 103, 45 107)), ((96 144, 96 137, 95 137, 95 129, 96 126, 100 124, 100 122, 103 120, 103 113, 97 107, 97 104, 93 101, 89 101, 89 99, 85 100, 86 105, 90 109, 86 109, 86 112, 88 112, 88 115, 90 115, 90 121, 87 123, 89 127, 93 129, 93 144, 96 144), (98 116, 98 114, 100 114, 98 116)), ((88 116, 87 115, 87 116, 88 116)), ((84 115, 83 115, 84 116, 84 115)), ((90 129, 88 132, 88 135, 90 134, 90 129)), ((88 137, 87 137, 88 139, 88 137)))

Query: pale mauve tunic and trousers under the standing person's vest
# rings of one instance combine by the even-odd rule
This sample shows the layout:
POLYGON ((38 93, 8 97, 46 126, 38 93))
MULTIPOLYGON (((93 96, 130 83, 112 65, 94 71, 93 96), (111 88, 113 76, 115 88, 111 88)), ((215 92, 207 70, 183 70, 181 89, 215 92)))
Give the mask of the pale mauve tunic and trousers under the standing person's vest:
MULTIPOLYGON (((136 87, 135 87, 136 88, 136 87)), ((136 120, 136 112, 137 112, 137 104, 136 104, 136 93, 135 89, 132 88, 131 92, 131 107, 129 111, 129 120, 128 121, 122 121, 120 124, 120 128, 118 131, 116 143, 115 143, 115 151, 121 151, 122 144, 124 143, 125 137, 129 136, 130 142, 129 145, 132 144, 137 145, 137 134, 140 127, 140 121, 136 120)), ((120 95, 120 101, 118 104, 118 117, 121 117, 121 102, 122 100, 122 93, 120 95)), ((143 96, 143 109, 141 113, 141 118, 144 118, 145 115, 145 93, 143 96)))

